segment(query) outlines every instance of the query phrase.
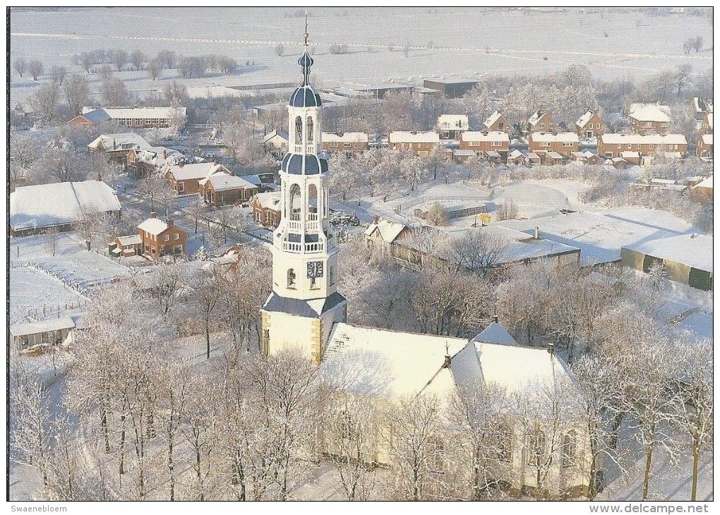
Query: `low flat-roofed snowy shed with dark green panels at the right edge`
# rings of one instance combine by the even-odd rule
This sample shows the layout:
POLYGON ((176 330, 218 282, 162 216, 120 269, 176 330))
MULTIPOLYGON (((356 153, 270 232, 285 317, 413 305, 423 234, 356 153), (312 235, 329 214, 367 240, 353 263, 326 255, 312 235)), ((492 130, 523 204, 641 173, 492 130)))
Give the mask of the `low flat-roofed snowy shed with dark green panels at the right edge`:
POLYGON ((643 272, 653 265, 662 265, 670 281, 713 291, 713 239, 703 234, 626 245, 621 250, 621 264, 643 272))

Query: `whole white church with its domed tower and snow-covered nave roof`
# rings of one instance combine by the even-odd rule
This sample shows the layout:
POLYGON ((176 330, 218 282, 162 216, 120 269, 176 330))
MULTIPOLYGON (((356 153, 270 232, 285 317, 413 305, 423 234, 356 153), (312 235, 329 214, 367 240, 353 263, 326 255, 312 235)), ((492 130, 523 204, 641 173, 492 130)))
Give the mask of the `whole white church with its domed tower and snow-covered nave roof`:
MULTIPOLYGON (((292 92, 288 110, 288 152, 282 160, 282 209, 272 235, 272 293, 261 308, 264 355, 293 348, 320 367, 320 376, 348 396, 379 402, 432 394, 448 398, 456 388, 493 383, 508 395, 531 396, 574 383, 569 368, 549 349, 522 347, 498 324, 472 340, 396 332, 346 323, 348 304, 337 288, 339 255, 328 222, 328 158, 322 151, 322 101, 310 84, 313 60, 307 50, 298 63, 302 83, 292 92)), ((528 457, 528 435, 513 429, 505 465, 498 479, 510 495, 528 495, 536 468, 528 457)), ((585 496, 587 439, 577 421, 563 429, 561 445, 580 456, 568 464, 557 459, 545 473, 552 476, 554 498, 585 496), (567 447, 570 448, 570 447, 567 447)), ((554 443, 541 440, 544 445, 554 443)), ((556 442, 557 443, 557 442, 556 442)), ((382 447, 382 446, 381 446, 382 447)), ((379 448, 375 460, 392 467, 379 448)))

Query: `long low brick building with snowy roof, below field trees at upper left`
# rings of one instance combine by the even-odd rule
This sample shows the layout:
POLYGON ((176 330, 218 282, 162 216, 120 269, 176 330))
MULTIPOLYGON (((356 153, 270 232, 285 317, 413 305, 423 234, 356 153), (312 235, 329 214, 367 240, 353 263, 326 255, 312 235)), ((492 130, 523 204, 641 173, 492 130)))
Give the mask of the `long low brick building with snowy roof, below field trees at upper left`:
POLYGON ((133 129, 167 128, 174 122, 183 126, 186 117, 186 107, 84 107, 68 125, 91 126, 112 120, 133 129))

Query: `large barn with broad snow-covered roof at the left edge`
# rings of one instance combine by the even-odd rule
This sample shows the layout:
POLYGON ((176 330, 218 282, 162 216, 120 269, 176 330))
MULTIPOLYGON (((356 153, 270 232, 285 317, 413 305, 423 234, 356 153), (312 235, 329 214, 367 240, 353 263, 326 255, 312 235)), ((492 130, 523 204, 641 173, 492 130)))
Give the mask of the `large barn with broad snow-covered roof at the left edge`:
POLYGON ((10 193, 12 236, 39 234, 54 228, 70 231, 89 215, 120 217, 120 201, 102 181, 20 186, 10 193), (45 201, 40 201, 45 199, 45 201))

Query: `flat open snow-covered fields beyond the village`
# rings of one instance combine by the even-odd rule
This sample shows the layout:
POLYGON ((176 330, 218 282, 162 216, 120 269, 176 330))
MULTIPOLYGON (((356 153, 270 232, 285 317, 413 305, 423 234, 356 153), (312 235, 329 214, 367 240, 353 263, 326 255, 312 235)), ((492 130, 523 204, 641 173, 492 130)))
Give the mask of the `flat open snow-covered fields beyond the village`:
MULTIPOLYGON (((302 9, 71 8, 12 9, 11 57, 73 66, 73 55, 97 48, 168 49, 184 55, 220 54, 242 64, 238 74, 186 81, 194 94, 228 86, 287 82, 302 49, 302 9), (283 55, 276 55, 278 45, 283 55), (248 63, 248 65, 246 65, 248 63), (196 89, 197 88, 197 89, 196 89)), ((310 9, 310 46, 320 87, 346 84, 421 83, 423 78, 480 78, 490 74, 546 74, 582 64, 603 79, 642 79, 662 68, 688 64, 712 68, 708 17, 651 17, 629 9, 564 9, 562 12, 488 11, 472 7, 310 9), (703 37, 703 50, 685 55, 683 42, 703 37), (330 53, 347 45, 347 53, 330 53), (405 50, 407 48, 407 57, 405 50)), ((159 91, 175 70, 151 81, 147 72, 117 76, 132 91, 159 91)), ((300 78, 299 72, 296 78, 300 78)), ((37 82, 11 78, 12 103, 24 101, 37 82)), ((97 91, 99 78, 91 84, 97 91)))

